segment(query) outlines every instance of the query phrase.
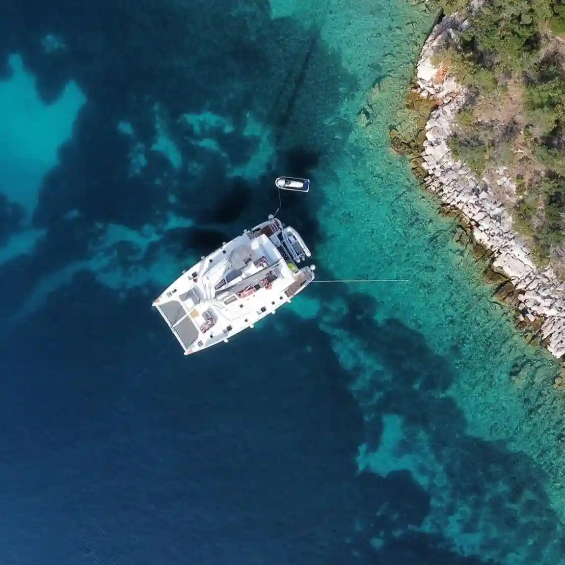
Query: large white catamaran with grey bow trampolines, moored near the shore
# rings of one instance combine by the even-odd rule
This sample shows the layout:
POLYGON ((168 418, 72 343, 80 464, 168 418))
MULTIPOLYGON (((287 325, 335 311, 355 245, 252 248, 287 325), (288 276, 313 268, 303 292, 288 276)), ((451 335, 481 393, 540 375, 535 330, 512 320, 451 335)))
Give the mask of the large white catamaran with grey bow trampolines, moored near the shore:
POLYGON ((153 302, 185 355, 253 325, 314 280, 299 264, 310 250, 294 228, 269 216, 184 271, 153 302))

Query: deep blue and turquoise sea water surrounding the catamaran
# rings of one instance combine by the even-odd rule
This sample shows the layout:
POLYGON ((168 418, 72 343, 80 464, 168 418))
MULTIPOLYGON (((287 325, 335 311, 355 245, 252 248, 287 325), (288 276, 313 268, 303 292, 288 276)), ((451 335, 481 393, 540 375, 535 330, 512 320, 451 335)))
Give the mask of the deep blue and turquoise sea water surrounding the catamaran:
POLYGON ((559 364, 389 150, 433 20, 3 0, 1 565, 565 563, 559 364), (151 301, 281 174, 319 279, 407 282, 184 357, 151 301))

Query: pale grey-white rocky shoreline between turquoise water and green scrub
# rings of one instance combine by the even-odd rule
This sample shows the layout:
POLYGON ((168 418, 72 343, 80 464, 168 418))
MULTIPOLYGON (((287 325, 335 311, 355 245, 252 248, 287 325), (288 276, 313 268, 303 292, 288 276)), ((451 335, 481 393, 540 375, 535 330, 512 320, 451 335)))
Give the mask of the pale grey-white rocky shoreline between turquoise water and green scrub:
MULTIPOLYGON (((515 191, 516 185, 504 168, 477 179, 449 149, 455 115, 470 93, 455 81, 449 69, 432 61, 441 46, 456 41, 466 25, 458 14, 442 19, 421 50, 411 95, 433 102, 436 109, 420 133, 412 164, 423 177, 425 188, 448 210, 460 215, 468 234, 459 235, 463 244, 472 240, 476 257, 488 258, 487 276, 498 283, 497 295, 515 306, 518 327, 561 359, 565 354, 565 282, 551 267, 542 271, 535 266, 527 242, 512 228, 511 214, 496 194, 501 186, 515 191)), ((558 377, 555 386, 562 384, 565 381, 558 377)))

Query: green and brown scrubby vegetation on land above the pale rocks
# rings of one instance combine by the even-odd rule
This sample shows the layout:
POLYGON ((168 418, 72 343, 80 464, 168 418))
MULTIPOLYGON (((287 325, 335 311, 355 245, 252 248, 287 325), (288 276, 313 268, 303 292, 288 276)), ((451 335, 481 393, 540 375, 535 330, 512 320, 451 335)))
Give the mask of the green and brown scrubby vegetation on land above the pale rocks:
POLYGON ((466 29, 439 55, 471 93, 451 150, 479 176, 504 171, 514 180, 517 190, 501 197, 515 229, 540 266, 563 266, 565 0, 441 2, 446 14, 468 16, 466 29))

